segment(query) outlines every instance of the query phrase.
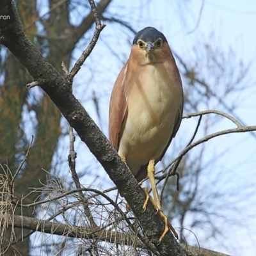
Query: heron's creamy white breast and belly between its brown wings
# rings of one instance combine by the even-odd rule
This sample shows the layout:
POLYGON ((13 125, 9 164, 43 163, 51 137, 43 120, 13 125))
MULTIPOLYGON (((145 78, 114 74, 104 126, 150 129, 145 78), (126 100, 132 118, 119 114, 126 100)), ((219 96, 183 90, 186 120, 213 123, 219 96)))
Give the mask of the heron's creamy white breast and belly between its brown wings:
MULTIPOLYGON (((161 156, 170 140, 179 90, 172 79, 163 79, 156 67, 146 65, 127 95, 127 120, 118 153, 124 155, 132 173, 161 156)), ((135 81, 135 79, 134 79, 135 81)))

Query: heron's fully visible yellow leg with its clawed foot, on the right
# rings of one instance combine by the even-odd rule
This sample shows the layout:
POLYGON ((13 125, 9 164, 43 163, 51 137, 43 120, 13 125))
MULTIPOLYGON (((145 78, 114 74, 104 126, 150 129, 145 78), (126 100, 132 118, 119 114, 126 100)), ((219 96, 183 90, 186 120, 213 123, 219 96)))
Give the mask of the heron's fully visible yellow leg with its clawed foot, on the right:
POLYGON ((160 204, 160 200, 159 200, 159 195, 157 192, 157 188, 156 188, 156 180, 155 180, 155 161, 154 160, 150 160, 150 162, 148 163, 148 178, 150 180, 150 184, 151 184, 151 188, 152 188, 152 193, 154 195, 154 200, 151 198, 151 196, 148 194, 147 189, 143 189, 146 193, 146 200, 145 203, 143 205, 143 209, 145 211, 147 204, 148 204, 148 200, 150 200, 150 202, 152 202, 152 205, 155 209, 157 209, 157 213, 161 216, 161 218, 163 218, 164 220, 164 232, 161 235, 161 237, 159 238, 159 243, 163 240, 164 236, 166 235, 166 233, 168 232, 169 228, 172 230, 174 236, 178 239, 178 234, 175 232, 175 229, 172 227, 172 225, 169 223, 168 218, 164 215, 163 211, 162 211, 162 207, 160 204))

